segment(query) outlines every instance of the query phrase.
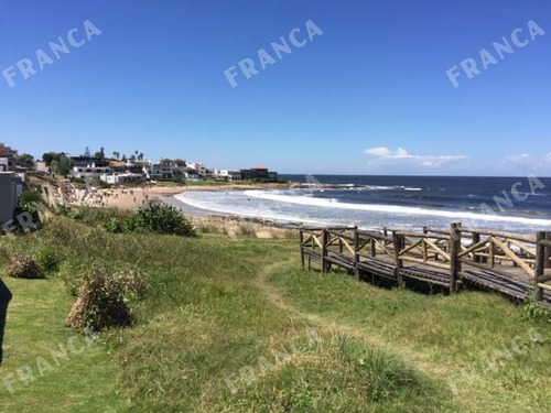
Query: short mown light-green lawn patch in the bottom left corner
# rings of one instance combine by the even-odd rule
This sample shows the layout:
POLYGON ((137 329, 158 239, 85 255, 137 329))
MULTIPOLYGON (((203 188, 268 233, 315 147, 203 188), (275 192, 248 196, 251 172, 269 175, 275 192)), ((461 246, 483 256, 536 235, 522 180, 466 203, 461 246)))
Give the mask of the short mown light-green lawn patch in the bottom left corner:
POLYGON ((63 326, 73 305, 58 280, 4 279, 13 294, 8 309, 0 380, 2 412, 120 412, 122 399, 112 380, 115 366, 104 346, 63 326), (65 349, 57 358, 51 350, 65 349), (55 361, 57 360, 57 362, 55 361), (34 381, 19 379, 30 368, 34 381), (13 393, 10 391, 12 390, 13 393))

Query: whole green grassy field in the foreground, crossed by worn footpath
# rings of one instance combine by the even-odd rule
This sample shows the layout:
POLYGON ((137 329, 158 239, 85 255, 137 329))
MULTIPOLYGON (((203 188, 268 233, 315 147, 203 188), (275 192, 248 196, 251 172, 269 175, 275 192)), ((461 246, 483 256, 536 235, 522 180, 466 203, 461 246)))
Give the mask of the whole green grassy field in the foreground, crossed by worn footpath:
POLYGON ((63 326, 69 292, 95 260, 139 267, 148 293, 132 306, 131 328, 102 334, 29 385, 15 381, 13 395, 0 387, 0 411, 550 410, 549 343, 476 380, 462 373, 517 335, 531 344, 529 328, 548 337, 544 317, 530 320, 495 295, 429 296, 307 274, 295 270, 296 242, 112 235, 68 218, 3 239, 12 253, 61 262, 44 281, 6 280, 14 298, 0 380, 78 337, 63 326))

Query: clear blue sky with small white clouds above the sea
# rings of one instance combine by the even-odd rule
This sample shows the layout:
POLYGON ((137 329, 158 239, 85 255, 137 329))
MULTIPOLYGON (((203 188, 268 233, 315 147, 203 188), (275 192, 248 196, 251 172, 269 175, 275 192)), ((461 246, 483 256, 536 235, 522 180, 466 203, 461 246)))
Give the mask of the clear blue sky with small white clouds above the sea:
POLYGON ((551 3, 4 1, 0 141, 282 173, 551 176, 551 3), (100 32, 86 39, 83 22, 100 32), (322 35, 310 41, 305 22, 322 35), (545 34, 533 41, 533 21, 545 34), (68 32, 57 59, 50 42, 68 32), (278 58, 293 29, 305 44, 278 58), (501 59, 494 42, 523 47, 501 59), (39 69, 36 50, 53 61, 39 69), (274 64, 261 69, 258 51, 274 64), (497 63, 483 69, 479 51, 497 63), (17 63, 36 74, 24 78, 17 63), (238 63, 255 62, 246 78, 238 63), (461 62, 480 74, 468 79, 461 62), (224 72, 231 66, 237 87, 224 72), (446 70, 458 66, 455 88, 446 70))

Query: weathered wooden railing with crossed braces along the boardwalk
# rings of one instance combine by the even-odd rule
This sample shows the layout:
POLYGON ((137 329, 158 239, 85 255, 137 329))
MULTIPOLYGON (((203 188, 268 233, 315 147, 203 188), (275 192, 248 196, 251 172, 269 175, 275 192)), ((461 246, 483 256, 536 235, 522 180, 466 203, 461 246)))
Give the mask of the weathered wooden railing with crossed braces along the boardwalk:
POLYGON ((465 228, 461 224, 452 224, 449 231, 423 227, 420 232, 392 228, 380 232, 356 227, 302 228, 301 258, 303 267, 309 260, 309 269, 313 260, 324 273, 336 264, 358 278, 369 262, 383 262, 387 268, 393 265, 399 285, 403 283, 402 273, 423 269, 430 272, 432 268, 446 276, 452 293, 462 276, 467 276, 462 271, 473 269, 531 285, 536 301, 542 300, 544 291, 551 291, 551 231, 534 237, 465 228))

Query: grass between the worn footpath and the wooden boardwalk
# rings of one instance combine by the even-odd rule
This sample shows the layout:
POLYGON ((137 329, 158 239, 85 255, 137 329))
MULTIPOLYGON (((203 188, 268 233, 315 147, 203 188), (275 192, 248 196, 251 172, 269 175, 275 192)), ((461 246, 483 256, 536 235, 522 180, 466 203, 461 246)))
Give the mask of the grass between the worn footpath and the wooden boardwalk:
POLYGON ((526 319, 522 307, 500 296, 426 296, 299 270, 276 271, 271 280, 264 275, 268 282, 276 285, 270 300, 295 316, 398 356, 445 387, 456 384, 455 394, 447 389, 455 411, 551 410, 549 322, 526 319))

